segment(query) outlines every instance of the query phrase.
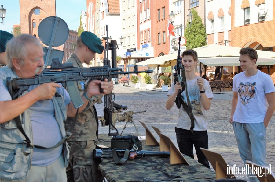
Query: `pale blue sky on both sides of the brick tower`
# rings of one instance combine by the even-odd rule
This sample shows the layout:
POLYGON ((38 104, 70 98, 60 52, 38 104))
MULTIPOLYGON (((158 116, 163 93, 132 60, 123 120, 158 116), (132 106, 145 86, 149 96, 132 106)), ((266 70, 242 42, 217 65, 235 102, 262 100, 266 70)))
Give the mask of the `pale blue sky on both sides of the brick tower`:
MULTIPOLYGON (((19 0, 0 0, 0 4, 7 10, 4 25, 0 23, 0 30, 11 32, 13 24, 20 24, 19 0)), ((56 0, 56 16, 63 19, 70 30, 78 29, 82 10, 87 11, 86 0, 56 0)))

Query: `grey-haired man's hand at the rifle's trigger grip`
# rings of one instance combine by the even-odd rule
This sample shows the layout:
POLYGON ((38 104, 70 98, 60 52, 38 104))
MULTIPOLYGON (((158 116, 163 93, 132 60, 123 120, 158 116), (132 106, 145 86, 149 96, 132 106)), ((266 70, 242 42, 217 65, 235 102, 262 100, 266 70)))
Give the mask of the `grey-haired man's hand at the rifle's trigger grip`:
POLYGON ((53 98, 54 94, 56 93, 57 87, 61 87, 61 85, 54 82, 43 83, 33 89, 31 92, 35 94, 34 97, 37 97, 37 101, 49 100, 53 98))

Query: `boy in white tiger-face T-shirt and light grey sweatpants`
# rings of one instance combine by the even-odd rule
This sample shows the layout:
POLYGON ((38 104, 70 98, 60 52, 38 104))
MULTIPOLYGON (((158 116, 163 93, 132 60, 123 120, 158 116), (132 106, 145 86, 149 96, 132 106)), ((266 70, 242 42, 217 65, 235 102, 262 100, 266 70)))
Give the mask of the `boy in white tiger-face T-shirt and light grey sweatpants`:
MULTIPOLYGON (((275 110, 275 89, 270 75, 255 64, 257 51, 240 50, 240 66, 244 72, 234 76, 231 117, 240 157, 266 166, 266 128, 275 110), (266 110, 266 100, 268 109, 266 110)), ((254 178, 249 178, 254 180, 254 178)))

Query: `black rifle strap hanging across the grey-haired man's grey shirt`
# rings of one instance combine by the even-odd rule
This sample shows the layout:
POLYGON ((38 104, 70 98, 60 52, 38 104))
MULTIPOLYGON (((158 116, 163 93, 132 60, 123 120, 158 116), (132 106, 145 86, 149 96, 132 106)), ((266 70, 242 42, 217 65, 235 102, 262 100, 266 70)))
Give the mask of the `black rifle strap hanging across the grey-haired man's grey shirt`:
MULTIPOLYGON (((73 121, 73 123, 71 124, 71 128, 70 128, 70 130, 67 132, 66 136, 64 136, 56 145, 54 145, 54 146, 52 146, 52 147, 43 147, 43 146, 40 146, 40 145, 33 145, 33 144, 31 144, 31 141, 30 141, 29 137, 26 135, 26 133, 25 133, 23 127, 22 127, 21 120, 20 120, 20 116, 15 117, 14 120, 15 120, 15 123, 16 123, 17 128, 19 129, 19 131, 20 131, 20 132, 24 135, 24 137, 26 138, 24 141, 25 141, 28 145, 33 146, 33 147, 36 147, 36 148, 39 148, 39 149, 53 149, 53 148, 56 148, 56 147, 60 146, 61 144, 63 144, 64 142, 66 142, 69 138, 71 138, 71 135, 72 135, 71 131, 72 131, 72 130, 74 129, 74 127, 75 127, 77 115, 78 115, 78 109, 77 109, 77 111, 76 111, 74 121, 73 121)), ((24 155, 26 155, 26 156, 29 155, 29 153, 25 153, 24 151, 23 151, 23 153, 24 153, 24 155)))

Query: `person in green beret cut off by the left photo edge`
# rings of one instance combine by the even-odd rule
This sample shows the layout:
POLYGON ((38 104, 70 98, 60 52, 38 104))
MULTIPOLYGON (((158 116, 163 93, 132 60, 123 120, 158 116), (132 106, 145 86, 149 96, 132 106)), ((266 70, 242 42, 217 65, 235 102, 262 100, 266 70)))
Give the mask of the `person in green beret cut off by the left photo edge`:
POLYGON ((6 65, 6 44, 7 42, 13 38, 13 34, 0 30, 0 64, 6 65))

